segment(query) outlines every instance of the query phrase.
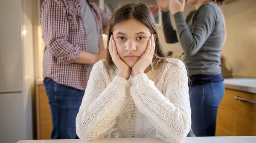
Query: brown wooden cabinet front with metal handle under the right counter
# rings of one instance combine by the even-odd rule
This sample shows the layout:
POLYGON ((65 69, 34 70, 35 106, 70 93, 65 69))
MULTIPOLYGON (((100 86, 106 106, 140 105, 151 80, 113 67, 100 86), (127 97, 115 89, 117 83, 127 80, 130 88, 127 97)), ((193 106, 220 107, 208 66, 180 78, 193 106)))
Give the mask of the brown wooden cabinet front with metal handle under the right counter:
POLYGON ((218 109, 216 136, 256 136, 256 104, 235 96, 256 101, 256 94, 226 89, 218 109))

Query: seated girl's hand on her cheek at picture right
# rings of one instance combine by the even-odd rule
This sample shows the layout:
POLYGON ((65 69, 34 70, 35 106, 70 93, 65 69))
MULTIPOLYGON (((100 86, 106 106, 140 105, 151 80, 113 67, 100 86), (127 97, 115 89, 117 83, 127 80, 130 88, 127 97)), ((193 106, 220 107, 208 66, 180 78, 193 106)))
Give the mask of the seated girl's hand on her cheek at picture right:
POLYGON ((140 73, 144 73, 144 71, 152 63, 154 50, 155 50, 155 42, 154 42, 154 36, 152 34, 150 36, 150 39, 148 40, 147 49, 142 54, 140 59, 132 67, 132 76, 137 76, 140 73))

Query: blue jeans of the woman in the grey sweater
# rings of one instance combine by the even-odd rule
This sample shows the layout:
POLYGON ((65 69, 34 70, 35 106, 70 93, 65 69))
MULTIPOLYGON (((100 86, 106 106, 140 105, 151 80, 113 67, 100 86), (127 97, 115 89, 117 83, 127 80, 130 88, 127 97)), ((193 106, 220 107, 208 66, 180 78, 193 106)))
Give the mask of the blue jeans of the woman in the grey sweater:
POLYGON ((191 126, 195 136, 215 136, 217 111, 224 90, 223 81, 209 82, 189 88, 191 126))

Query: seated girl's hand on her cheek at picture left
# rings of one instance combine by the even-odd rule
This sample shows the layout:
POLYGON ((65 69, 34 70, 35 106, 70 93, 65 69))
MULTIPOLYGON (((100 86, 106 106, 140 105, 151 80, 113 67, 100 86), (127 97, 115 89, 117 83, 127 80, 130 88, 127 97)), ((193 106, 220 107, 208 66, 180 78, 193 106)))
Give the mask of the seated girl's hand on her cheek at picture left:
POLYGON ((112 61, 118 69, 118 76, 121 76, 122 78, 128 80, 131 76, 131 67, 129 67, 125 62, 122 61, 122 59, 120 59, 120 56, 116 50, 116 42, 113 38, 113 35, 111 35, 110 37, 108 50, 111 55, 112 61))

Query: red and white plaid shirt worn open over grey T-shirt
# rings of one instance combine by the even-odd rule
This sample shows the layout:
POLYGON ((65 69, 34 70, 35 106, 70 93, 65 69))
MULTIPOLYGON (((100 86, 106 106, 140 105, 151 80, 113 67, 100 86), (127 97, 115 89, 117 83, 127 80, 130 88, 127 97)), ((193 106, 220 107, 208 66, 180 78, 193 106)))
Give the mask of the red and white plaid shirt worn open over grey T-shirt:
MULTIPOLYGON (((110 20, 95 3, 89 6, 97 24, 99 51, 103 49, 102 32, 110 20)), ((81 50, 86 51, 86 35, 80 12, 80 0, 44 0, 41 7, 43 27, 44 78, 59 84, 85 90, 87 86, 87 65, 74 63, 81 50)))

